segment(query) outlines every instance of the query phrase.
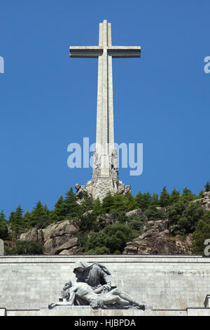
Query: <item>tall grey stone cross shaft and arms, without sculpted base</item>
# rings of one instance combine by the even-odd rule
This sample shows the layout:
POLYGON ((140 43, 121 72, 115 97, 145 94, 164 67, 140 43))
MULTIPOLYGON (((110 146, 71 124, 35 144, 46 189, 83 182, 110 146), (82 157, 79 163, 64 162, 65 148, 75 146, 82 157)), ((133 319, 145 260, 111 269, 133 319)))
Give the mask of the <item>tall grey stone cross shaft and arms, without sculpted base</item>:
POLYGON ((139 46, 112 46, 111 23, 99 23, 99 46, 71 46, 71 58, 98 58, 96 152, 102 177, 109 177, 109 159, 114 150, 112 58, 139 58, 139 46))

